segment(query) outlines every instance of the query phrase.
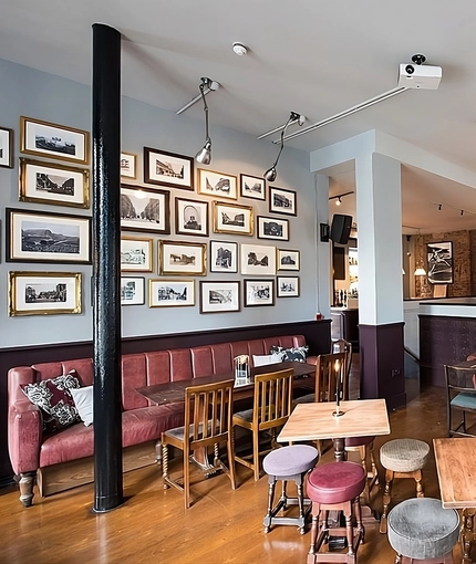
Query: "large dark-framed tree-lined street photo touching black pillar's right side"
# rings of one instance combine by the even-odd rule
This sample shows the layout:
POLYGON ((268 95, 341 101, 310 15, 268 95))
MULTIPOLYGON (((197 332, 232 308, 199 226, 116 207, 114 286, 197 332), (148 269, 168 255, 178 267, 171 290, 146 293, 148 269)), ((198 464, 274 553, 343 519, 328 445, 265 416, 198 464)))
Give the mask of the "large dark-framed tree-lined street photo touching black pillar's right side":
POLYGON ((170 192, 121 186, 121 228, 127 231, 170 232, 170 192))

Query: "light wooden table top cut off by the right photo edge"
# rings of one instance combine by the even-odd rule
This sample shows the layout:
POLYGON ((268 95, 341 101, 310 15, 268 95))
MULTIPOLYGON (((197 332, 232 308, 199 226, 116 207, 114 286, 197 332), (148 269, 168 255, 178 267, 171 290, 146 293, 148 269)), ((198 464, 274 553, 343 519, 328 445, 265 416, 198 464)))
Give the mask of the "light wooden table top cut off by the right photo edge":
POLYGON ((433 439, 442 505, 476 506, 476 438, 433 439))

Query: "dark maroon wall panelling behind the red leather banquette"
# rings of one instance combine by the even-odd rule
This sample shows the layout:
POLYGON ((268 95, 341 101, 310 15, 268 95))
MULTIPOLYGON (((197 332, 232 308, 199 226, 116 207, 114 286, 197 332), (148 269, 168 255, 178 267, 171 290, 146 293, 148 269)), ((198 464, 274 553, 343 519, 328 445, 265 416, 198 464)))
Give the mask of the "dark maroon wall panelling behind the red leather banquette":
MULTIPOLYGON (((186 348, 228 341, 248 341, 281 335, 304 335, 310 355, 329 353, 331 349, 331 320, 131 337, 123 340, 122 352, 128 354, 163 351, 165 348, 186 348)), ((92 342, 0 348, 0 483, 8 481, 12 476, 7 447, 8 370, 13 366, 30 366, 38 363, 89 358, 92 356, 92 342)))

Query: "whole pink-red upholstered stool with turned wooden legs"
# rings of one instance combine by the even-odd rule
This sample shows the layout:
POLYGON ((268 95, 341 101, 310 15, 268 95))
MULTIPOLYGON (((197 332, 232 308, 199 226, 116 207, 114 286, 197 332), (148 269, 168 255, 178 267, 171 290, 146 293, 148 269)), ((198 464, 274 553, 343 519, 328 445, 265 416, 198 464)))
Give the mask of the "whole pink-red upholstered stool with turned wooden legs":
MULTIPOLYGON (((342 562, 355 564, 359 544, 364 540, 359 497, 365 488, 366 472, 355 462, 322 464, 308 476, 308 497, 312 501, 311 547, 308 564, 315 562, 342 562), (345 528, 329 528, 329 511, 342 511, 345 528), (322 513, 322 515, 321 515, 322 513), (321 525, 319 528, 319 520, 321 525), (353 520, 356 526, 353 526, 353 520), (346 539, 346 553, 334 552, 332 539, 346 539)), ((344 549, 345 546, 343 546, 344 549)))

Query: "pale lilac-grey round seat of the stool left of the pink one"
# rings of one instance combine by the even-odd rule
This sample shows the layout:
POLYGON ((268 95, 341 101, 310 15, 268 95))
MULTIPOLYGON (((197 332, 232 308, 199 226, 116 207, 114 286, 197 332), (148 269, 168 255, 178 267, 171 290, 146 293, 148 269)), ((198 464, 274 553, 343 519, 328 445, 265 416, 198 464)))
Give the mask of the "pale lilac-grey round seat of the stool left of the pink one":
POLYGON ((314 468, 319 451, 309 445, 291 445, 272 450, 262 461, 262 468, 269 476, 296 476, 314 468))

